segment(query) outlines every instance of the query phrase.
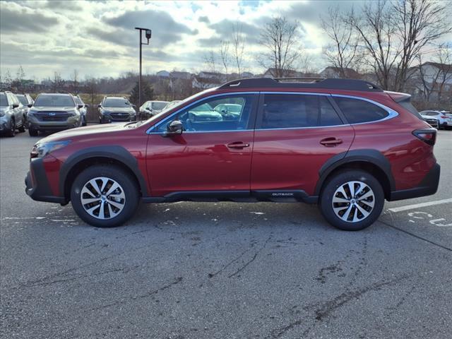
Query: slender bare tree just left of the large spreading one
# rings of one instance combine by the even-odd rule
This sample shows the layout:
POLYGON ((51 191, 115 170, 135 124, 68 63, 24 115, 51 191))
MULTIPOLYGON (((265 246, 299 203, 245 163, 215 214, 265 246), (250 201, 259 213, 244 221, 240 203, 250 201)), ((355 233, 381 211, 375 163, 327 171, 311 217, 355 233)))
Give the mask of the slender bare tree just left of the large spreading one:
POLYGON ((359 35, 340 13, 339 6, 328 8, 328 14, 321 20, 323 31, 331 40, 323 48, 323 54, 328 63, 338 69, 340 78, 348 78, 347 69, 354 68, 359 59, 359 35))

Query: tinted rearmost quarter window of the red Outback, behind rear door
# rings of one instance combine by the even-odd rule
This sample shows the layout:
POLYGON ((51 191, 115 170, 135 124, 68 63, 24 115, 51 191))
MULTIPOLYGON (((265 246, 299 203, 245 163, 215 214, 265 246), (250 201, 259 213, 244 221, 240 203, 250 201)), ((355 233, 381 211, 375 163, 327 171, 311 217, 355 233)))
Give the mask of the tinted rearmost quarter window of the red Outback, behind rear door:
POLYGON ((377 121, 389 115, 385 109, 364 100, 350 97, 334 97, 334 101, 338 104, 350 124, 377 121))

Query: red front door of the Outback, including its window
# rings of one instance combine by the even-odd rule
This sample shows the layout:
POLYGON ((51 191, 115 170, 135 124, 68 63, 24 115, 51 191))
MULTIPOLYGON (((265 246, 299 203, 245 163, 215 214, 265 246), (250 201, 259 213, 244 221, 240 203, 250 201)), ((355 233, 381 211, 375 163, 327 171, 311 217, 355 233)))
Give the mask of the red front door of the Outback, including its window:
POLYGON ((146 151, 151 196, 249 192, 256 99, 254 93, 213 95, 160 121, 146 151), (165 136, 174 120, 183 133, 165 136))

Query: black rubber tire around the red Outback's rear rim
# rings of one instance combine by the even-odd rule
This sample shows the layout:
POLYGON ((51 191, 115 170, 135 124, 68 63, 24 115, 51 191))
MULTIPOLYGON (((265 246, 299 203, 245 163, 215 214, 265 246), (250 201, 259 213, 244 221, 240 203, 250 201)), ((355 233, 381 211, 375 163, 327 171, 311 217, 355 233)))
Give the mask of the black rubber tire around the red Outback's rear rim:
MULTIPOLYGON (((358 188, 359 186, 354 187, 358 188)), ((350 190, 348 190, 346 193, 350 194, 350 190)), ((338 194, 337 197, 340 198, 341 196, 342 194, 338 194)), ((362 194, 362 196, 364 196, 364 194, 362 194)), ((379 181, 368 172, 364 172, 358 169, 345 169, 343 171, 338 172, 337 174, 333 174, 333 177, 328 179, 328 181, 323 186, 319 201, 320 201, 319 208, 321 210, 321 213, 323 217, 326 219, 326 221, 328 221, 331 225, 337 227, 340 230, 358 231, 363 230, 366 227, 369 227, 379 218, 384 205, 384 192, 379 181), (339 205, 335 203, 335 206, 350 207, 350 212, 348 215, 345 215, 345 213, 347 213, 348 210, 347 207, 340 207, 343 209, 341 209, 338 213, 342 213, 342 215, 336 215, 335 210, 333 209, 333 196, 335 195, 336 190, 340 189, 340 186, 343 186, 348 182, 364 183, 369 187, 371 193, 373 193, 372 198, 365 199, 366 201, 371 199, 371 202, 374 203, 374 206, 370 210, 370 213, 369 215, 367 215, 367 217, 364 217, 364 214, 362 214, 359 211, 359 208, 350 206, 350 203, 348 205, 346 203, 344 204, 340 203, 339 205), (356 213, 357 220, 359 219, 359 215, 361 215, 364 218, 356 222, 352 222, 351 220, 347 221, 350 217, 351 218, 354 217, 354 215, 350 215, 352 213, 354 215, 356 213), (347 220, 343 220, 340 217, 347 218, 347 220)), ((369 208, 366 204, 363 205, 362 201, 359 202, 353 199, 352 204, 353 203, 355 203, 355 205, 359 203, 360 208, 363 208, 363 206, 364 208, 369 208)))

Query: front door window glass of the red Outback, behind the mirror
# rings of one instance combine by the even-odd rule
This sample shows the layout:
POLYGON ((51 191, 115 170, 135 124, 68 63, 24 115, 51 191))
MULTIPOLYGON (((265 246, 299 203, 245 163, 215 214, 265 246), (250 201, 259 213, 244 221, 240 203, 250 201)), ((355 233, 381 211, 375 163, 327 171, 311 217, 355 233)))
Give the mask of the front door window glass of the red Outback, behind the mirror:
POLYGON ((179 120, 185 131, 240 131, 248 128, 249 117, 254 106, 254 95, 230 95, 213 97, 203 102, 183 109, 181 112, 166 119, 157 127, 158 132, 165 132, 171 121, 179 120), (215 107, 221 105, 237 105, 235 112, 215 107))

